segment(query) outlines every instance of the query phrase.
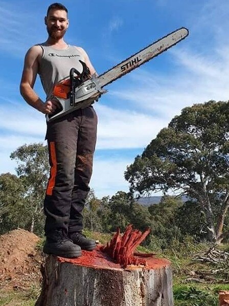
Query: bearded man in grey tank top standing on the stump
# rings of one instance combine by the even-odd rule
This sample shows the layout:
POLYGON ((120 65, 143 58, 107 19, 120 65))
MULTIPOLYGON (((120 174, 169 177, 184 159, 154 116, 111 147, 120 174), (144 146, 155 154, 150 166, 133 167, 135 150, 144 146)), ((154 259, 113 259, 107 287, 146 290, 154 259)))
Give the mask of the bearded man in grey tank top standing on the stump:
MULTIPOLYGON (((52 115, 59 107, 53 98, 54 85, 69 76, 71 68, 82 72, 79 60, 86 63, 91 75, 95 69, 82 48, 64 41, 69 21, 62 4, 50 5, 44 22, 49 37, 27 52, 20 93, 32 107, 52 115), (45 102, 33 90, 37 74, 47 95, 45 102)), ((91 251, 96 247, 95 241, 82 235, 82 210, 89 192, 96 134, 97 115, 92 106, 47 124, 51 166, 44 199, 46 242, 43 251, 47 254, 78 257, 81 249, 91 251)))

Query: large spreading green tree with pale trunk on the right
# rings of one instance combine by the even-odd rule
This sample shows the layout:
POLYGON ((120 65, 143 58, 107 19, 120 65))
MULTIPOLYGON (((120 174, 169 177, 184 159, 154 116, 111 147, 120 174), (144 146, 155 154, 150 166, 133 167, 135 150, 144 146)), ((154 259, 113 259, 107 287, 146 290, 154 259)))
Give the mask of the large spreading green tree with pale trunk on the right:
POLYGON ((216 243, 223 239, 229 207, 228 104, 209 101, 184 108, 125 172, 132 192, 173 189, 189 195, 201 205, 205 238, 216 243))

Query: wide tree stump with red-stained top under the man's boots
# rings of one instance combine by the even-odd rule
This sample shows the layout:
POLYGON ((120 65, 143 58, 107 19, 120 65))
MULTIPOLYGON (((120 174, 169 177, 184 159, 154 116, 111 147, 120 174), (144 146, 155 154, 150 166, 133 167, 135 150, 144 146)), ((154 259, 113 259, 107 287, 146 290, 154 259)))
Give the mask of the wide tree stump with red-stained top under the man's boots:
POLYGON ((73 259, 48 256, 35 306, 173 306, 170 261, 134 253, 138 265, 120 264, 106 248, 73 259))

